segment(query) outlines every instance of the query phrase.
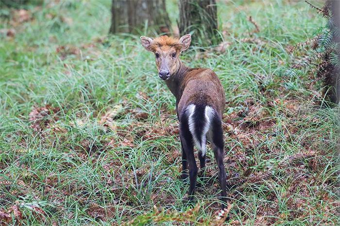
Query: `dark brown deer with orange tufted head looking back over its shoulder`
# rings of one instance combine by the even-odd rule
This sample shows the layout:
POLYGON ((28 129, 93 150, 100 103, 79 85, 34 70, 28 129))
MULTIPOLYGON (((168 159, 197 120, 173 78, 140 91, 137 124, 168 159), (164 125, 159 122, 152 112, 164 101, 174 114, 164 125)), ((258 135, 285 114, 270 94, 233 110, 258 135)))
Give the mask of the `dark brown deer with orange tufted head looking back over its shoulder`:
POLYGON ((208 140, 218 164, 221 208, 223 209, 227 194, 222 130, 225 94, 221 81, 213 70, 190 68, 179 59, 180 54, 190 46, 190 34, 183 35, 179 39, 167 35, 156 38, 141 36, 140 41, 146 50, 154 53, 158 76, 165 81, 171 93, 176 97, 182 149, 181 178, 189 177, 190 181, 187 201, 192 203, 194 199, 198 174, 194 146, 198 149, 200 170, 204 171, 208 140))

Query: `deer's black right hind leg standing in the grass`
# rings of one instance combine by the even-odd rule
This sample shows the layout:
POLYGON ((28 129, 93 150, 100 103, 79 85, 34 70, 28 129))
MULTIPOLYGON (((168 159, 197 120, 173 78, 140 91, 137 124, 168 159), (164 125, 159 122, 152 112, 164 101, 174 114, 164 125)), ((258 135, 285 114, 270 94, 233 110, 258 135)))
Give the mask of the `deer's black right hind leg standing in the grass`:
POLYGON ((221 187, 221 200, 223 202, 222 209, 224 208, 224 203, 227 202, 227 192, 226 192, 226 173, 223 163, 224 155, 224 142, 223 142, 223 130, 221 128, 221 119, 215 118, 213 122, 213 144, 215 159, 219 167, 219 182, 221 187))

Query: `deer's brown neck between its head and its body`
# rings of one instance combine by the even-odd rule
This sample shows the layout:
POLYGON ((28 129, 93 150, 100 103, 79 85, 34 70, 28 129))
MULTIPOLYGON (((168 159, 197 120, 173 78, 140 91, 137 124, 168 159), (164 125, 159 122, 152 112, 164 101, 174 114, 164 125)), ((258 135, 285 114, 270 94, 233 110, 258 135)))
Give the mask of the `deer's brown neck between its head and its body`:
POLYGON ((180 92, 181 84, 189 69, 189 67, 179 61, 177 72, 174 75, 170 76, 169 80, 165 81, 171 93, 176 97, 177 101, 179 101, 182 96, 182 92, 180 92))

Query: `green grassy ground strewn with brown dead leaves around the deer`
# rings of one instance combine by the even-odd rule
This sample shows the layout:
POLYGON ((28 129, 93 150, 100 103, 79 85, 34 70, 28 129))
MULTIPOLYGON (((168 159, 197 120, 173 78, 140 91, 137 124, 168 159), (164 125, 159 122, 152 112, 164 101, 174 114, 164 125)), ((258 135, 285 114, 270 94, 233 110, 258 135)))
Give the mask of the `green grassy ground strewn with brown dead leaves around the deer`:
MULTIPOLYGON (((168 3, 174 20, 175 1, 168 3)), ((304 2, 218 7, 224 49, 193 47, 182 58, 213 69, 226 93, 227 223, 338 225, 338 109, 315 107, 323 99, 313 67, 289 72, 309 52, 289 49, 325 19, 304 2)), ((150 222, 158 225, 167 216, 154 206, 187 220, 165 225, 216 223, 212 152, 200 206, 187 211, 174 97, 138 36, 106 38, 109 8, 110 0, 61 0, 1 9, 0 224, 120 225, 158 216, 150 222)))

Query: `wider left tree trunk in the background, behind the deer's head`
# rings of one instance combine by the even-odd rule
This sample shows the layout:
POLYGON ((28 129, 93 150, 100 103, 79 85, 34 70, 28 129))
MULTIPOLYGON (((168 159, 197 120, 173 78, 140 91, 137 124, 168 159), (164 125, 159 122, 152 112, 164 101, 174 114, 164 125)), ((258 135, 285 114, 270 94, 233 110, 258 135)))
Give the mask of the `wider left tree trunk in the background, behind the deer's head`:
POLYGON ((143 33, 145 25, 156 33, 170 32, 165 0, 112 0, 110 33, 143 33))

